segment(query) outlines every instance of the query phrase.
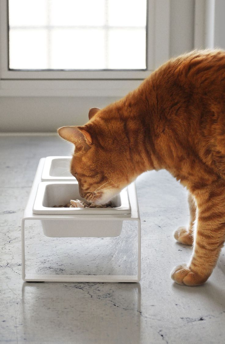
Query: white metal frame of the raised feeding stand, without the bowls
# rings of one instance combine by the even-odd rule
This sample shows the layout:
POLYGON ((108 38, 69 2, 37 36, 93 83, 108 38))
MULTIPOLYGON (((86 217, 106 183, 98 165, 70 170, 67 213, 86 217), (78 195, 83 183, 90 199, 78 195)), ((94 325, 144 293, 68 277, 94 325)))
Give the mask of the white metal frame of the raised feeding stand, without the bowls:
MULTIPOLYGON (((45 158, 39 162, 36 176, 28 198, 27 206, 23 213, 21 221, 21 248, 22 248, 22 279, 27 282, 139 282, 141 271, 141 225, 137 202, 137 193, 135 183, 128 186, 128 195, 131 205, 131 214, 127 215, 101 215, 98 221, 136 221, 137 222, 137 275, 40 275, 26 274, 26 256, 25 256, 25 222, 29 220, 54 220, 76 221, 82 220, 82 215, 36 215, 32 212, 33 202, 35 200, 37 187, 41 181, 41 173, 45 158)), ((85 221, 96 220, 95 215, 85 216, 85 221)))

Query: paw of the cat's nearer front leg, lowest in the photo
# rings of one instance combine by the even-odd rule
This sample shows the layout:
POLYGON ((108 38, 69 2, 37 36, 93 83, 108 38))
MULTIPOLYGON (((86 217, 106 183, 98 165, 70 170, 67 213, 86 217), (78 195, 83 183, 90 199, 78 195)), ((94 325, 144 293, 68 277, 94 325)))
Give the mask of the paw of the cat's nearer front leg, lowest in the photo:
POLYGON ((186 264, 176 266, 171 272, 171 278, 178 284, 186 286, 199 286, 204 283, 207 278, 198 275, 192 271, 186 264))

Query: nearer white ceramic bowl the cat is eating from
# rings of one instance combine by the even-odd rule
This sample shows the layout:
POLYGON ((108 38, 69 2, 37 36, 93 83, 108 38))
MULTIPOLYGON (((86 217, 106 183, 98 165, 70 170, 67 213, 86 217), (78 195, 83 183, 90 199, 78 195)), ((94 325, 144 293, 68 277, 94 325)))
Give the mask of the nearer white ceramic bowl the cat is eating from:
POLYGON ((115 237, 120 235, 123 221, 120 221, 118 218, 114 220, 113 217, 130 214, 131 207, 127 189, 122 190, 119 195, 113 198, 113 208, 52 208, 53 205, 64 205, 69 203, 71 199, 76 200, 77 198, 83 200, 79 195, 78 183, 39 183, 33 204, 33 213, 49 215, 49 219, 41 221, 43 232, 46 236, 115 237), (52 218, 51 215, 72 216, 70 218, 56 219, 56 216, 52 218), (107 215, 105 221, 104 215, 107 215))

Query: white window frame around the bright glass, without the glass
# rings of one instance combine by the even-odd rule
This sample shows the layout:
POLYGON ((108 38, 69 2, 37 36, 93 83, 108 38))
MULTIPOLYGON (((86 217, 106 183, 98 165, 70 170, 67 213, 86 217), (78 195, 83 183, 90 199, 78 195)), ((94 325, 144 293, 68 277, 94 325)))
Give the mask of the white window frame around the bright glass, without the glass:
POLYGON ((8 69, 8 1, 0 0, 0 96, 123 96, 169 58, 170 0, 147 0, 147 69, 13 71, 8 69))

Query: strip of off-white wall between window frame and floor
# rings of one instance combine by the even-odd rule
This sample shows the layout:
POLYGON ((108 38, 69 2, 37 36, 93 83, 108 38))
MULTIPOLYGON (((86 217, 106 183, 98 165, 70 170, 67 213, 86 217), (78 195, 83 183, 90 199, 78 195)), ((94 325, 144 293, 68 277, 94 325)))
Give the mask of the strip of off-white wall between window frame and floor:
POLYGON ((0 97, 1 131, 56 131, 83 125, 91 107, 102 108, 115 98, 0 97))

